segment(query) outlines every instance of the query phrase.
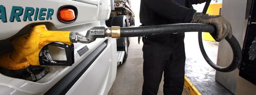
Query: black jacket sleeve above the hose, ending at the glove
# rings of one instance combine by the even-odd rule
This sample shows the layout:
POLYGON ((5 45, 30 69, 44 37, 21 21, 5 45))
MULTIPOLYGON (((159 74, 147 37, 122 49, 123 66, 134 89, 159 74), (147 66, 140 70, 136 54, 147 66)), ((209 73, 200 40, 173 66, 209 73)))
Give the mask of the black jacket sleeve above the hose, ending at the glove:
MULTIPOLYGON (((186 8, 173 0, 142 0, 155 13, 174 21, 190 22, 196 10, 186 8)), ((190 0, 189 0, 190 1, 190 0)))

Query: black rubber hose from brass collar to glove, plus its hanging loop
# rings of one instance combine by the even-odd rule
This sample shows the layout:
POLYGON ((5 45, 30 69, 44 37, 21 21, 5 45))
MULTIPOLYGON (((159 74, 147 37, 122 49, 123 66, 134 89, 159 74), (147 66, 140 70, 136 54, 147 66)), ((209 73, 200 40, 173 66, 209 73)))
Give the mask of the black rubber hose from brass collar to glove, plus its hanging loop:
MULTIPOLYGON (((120 29, 120 37, 137 37, 137 36, 148 36, 148 35, 157 35, 157 34, 170 34, 170 33, 184 33, 184 32, 197 32, 204 31, 209 33, 215 33, 215 28, 212 25, 207 25, 204 23, 178 23, 170 25, 156 25, 156 26, 143 26, 143 27, 126 27, 120 29)), ((229 66, 220 67, 209 58, 205 60, 208 64, 220 72, 231 72, 236 69, 242 60, 242 51, 234 36, 232 38, 225 38, 231 46, 233 51, 233 61, 229 66)), ((201 50, 202 51, 202 50, 201 50)), ((204 56, 207 54, 202 52, 204 56)), ((208 56, 207 56, 208 57, 208 56)))

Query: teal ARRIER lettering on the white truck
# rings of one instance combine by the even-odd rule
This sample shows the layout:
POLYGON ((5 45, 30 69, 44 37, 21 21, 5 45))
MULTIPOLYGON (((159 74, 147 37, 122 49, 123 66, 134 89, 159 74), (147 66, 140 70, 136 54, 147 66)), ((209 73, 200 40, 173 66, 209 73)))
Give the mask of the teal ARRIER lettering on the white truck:
POLYGON ((26 7, 25 10, 20 6, 12 6, 11 15, 6 15, 6 8, 3 5, 0 5, 0 19, 2 22, 7 22, 7 17, 9 17, 10 22, 14 20, 20 22, 23 21, 36 21, 36 20, 52 20, 52 15, 54 10, 51 8, 33 8, 26 7), (22 18, 23 15, 23 18, 22 18))

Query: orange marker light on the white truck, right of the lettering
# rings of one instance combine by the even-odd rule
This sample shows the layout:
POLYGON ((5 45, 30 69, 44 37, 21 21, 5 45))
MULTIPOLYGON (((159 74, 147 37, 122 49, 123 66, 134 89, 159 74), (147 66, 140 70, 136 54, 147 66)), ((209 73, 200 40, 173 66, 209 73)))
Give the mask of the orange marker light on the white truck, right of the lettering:
POLYGON ((72 9, 61 9, 59 11, 59 19, 62 21, 71 21, 75 18, 75 12, 72 9))

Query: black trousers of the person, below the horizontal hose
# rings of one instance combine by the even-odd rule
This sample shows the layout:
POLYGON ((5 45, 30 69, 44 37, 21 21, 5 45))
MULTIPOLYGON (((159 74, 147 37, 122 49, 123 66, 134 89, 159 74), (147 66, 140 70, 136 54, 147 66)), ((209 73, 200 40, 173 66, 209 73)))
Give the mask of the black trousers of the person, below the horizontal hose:
POLYGON ((184 33, 170 34, 166 41, 143 39, 142 94, 157 94, 164 73, 164 94, 182 94, 184 85, 184 33))

